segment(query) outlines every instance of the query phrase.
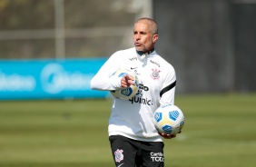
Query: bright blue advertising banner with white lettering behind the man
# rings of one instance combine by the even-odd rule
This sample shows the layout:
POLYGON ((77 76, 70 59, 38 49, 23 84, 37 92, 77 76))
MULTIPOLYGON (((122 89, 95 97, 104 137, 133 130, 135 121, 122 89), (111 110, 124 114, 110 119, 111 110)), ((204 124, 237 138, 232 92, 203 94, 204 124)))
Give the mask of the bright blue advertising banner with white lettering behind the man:
POLYGON ((0 100, 104 98, 90 81, 105 58, 0 61, 0 100))

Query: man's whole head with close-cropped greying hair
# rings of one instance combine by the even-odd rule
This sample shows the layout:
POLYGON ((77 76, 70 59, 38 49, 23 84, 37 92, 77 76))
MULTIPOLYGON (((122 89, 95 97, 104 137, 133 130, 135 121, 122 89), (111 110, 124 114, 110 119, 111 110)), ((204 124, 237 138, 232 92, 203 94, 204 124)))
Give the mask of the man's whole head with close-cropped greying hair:
POLYGON ((133 27, 133 42, 137 51, 148 52, 158 39, 157 24, 151 18, 140 18, 133 27))

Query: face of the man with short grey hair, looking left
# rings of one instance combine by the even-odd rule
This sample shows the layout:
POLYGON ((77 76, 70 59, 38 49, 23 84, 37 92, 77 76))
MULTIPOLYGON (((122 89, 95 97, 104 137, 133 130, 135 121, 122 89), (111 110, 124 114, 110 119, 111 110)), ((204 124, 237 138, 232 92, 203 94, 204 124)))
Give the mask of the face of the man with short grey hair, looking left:
POLYGON ((149 25, 146 22, 139 22, 134 25, 133 42, 137 51, 150 51, 157 39, 158 35, 149 31, 149 25))

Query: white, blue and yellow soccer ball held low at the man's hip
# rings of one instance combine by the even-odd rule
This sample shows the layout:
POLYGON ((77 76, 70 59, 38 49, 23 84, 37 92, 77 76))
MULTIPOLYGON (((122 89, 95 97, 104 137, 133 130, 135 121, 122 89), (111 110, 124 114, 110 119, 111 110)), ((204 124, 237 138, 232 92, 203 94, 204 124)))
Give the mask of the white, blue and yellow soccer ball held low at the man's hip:
POLYGON ((153 115, 153 123, 159 133, 177 134, 182 131, 185 117, 182 110, 176 105, 160 106, 153 115))

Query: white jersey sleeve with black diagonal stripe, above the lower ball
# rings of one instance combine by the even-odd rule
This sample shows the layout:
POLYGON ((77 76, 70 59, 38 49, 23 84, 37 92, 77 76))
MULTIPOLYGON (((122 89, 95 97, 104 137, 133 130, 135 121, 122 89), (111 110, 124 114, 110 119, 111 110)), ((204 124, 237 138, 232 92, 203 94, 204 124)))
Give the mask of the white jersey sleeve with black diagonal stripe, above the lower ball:
POLYGON ((160 92, 161 104, 166 104, 166 103, 174 104, 175 87, 176 87, 176 74, 175 74, 174 68, 171 66, 162 83, 162 90, 160 92))

